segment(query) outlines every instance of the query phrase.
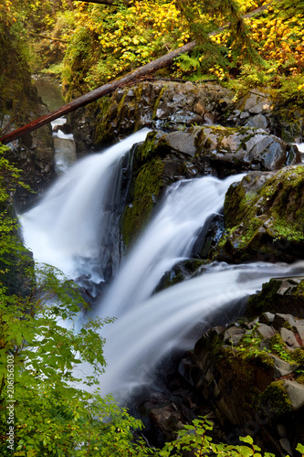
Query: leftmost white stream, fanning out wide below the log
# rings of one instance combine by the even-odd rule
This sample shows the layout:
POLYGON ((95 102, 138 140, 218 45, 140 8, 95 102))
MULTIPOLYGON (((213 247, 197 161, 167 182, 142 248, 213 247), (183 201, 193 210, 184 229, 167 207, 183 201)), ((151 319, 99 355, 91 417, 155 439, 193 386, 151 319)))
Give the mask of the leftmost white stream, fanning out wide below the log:
MULTIPOLYGON (((100 250, 109 250, 120 198, 121 157, 143 141, 143 129, 101 154, 92 154, 60 176, 41 202, 21 217, 26 246, 45 262, 76 278, 103 280, 100 250)), ((110 254, 108 254, 108 257, 110 254)))

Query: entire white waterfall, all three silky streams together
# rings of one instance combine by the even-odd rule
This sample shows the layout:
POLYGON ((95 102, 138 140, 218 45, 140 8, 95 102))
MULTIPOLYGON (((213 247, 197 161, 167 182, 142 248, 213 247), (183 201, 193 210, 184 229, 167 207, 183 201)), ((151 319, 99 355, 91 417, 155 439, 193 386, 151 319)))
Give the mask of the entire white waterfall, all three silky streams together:
MULTIPOLYGON (((39 261, 61 268, 71 277, 103 278, 109 260, 110 234, 118 235, 120 165, 131 145, 147 131, 132 135, 103 154, 94 154, 61 177, 41 203, 22 217, 26 245, 39 261), (114 183, 118 185, 114 185, 114 183), (102 254, 102 255, 101 255, 102 254)), ((91 314, 119 316, 102 330, 106 337, 107 371, 102 393, 121 384, 138 385, 166 350, 198 322, 211 322, 229 303, 257 292, 273 276, 299 274, 296 267, 253 263, 215 264, 204 275, 177 284, 149 298, 162 274, 191 255, 206 219, 223 206, 225 191, 239 175, 224 181, 205 176, 181 181, 169 189, 162 207, 126 259, 103 303, 91 314)), ((81 365, 81 371, 89 367, 81 365)))

